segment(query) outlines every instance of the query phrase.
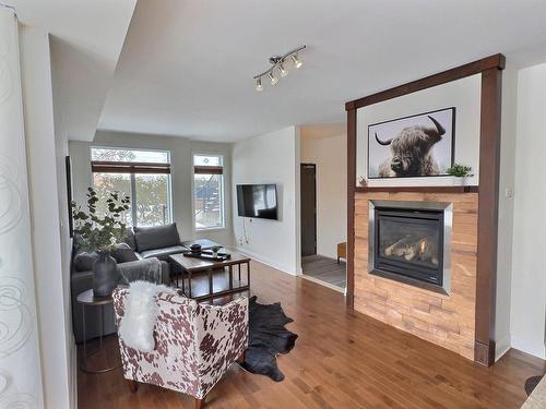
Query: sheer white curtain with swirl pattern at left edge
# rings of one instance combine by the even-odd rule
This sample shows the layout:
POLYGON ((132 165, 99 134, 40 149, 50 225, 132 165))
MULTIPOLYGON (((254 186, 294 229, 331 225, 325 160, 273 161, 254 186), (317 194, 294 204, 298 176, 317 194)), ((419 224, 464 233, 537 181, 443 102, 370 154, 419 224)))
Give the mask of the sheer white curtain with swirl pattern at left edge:
POLYGON ((43 407, 17 20, 0 4, 0 408, 43 407))

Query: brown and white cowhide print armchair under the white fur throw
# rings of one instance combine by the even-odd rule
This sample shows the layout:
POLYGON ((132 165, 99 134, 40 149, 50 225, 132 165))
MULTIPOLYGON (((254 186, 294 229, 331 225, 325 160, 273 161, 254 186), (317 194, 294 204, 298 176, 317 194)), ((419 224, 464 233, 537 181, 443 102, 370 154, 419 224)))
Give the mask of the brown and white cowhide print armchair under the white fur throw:
MULTIPOLYGON (((129 289, 114 291, 119 327, 129 289)), ((147 353, 119 339, 123 375, 132 392, 139 383, 191 395, 202 408, 206 394, 248 347, 248 299, 222 306, 199 304, 183 296, 158 293, 155 349, 147 353)))

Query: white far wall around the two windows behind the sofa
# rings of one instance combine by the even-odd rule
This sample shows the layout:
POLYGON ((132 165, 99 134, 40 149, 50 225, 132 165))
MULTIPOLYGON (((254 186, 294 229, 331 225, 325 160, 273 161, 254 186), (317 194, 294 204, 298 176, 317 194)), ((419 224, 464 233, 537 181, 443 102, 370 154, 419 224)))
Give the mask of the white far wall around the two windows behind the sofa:
POLYGON ((120 132, 97 131, 92 143, 70 141, 74 200, 85 203, 91 185, 91 146, 115 146, 165 149, 170 152, 173 213, 181 240, 207 238, 225 245, 234 245, 232 227, 232 146, 224 143, 190 141, 186 137, 159 136, 120 132), (225 218, 224 229, 195 231, 193 227, 193 153, 224 155, 225 218))

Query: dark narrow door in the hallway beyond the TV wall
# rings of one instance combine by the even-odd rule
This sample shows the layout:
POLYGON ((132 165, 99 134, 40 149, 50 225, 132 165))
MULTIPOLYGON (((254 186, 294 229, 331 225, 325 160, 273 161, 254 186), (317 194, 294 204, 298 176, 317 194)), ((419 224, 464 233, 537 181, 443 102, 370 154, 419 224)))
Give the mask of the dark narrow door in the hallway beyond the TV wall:
POLYGON ((317 254, 317 165, 300 165, 301 257, 317 254))

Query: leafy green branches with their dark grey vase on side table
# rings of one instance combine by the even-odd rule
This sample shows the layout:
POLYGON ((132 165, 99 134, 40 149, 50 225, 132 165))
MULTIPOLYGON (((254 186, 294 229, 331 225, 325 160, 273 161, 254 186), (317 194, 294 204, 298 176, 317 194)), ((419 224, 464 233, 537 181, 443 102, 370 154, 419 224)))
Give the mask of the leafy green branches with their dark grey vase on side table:
POLYGON ((108 297, 118 285, 117 263, 110 253, 126 234, 126 224, 122 220, 124 212, 129 209, 130 199, 120 199, 118 192, 109 193, 103 217, 97 215, 98 202, 97 193, 88 188, 87 212, 75 202, 71 203, 71 207, 80 248, 98 254, 93 264, 93 294, 108 297))

